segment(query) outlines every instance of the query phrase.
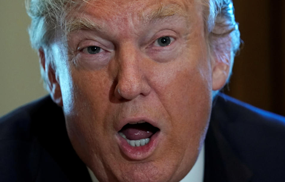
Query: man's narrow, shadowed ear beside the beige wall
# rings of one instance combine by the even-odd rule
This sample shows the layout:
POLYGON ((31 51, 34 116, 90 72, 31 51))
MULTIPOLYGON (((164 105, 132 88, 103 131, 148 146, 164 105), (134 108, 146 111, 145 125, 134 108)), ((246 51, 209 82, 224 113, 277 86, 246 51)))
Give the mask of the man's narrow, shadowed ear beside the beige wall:
POLYGON ((59 106, 63 106, 59 78, 56 76, 55 68, 52 66, 51 61, 46 60, 45 51, 42 48, 39 49, 38 54, 40 65, 44 70, 47 90, 50 93, 53 102, 59 106))

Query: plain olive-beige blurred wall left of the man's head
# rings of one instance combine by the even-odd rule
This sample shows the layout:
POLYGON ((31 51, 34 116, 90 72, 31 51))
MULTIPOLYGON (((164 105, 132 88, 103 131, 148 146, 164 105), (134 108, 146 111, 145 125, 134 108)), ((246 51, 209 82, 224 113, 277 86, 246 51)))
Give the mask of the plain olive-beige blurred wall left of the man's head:
POLYGON ((0 116, 47 94, 29 43, 24 0, 0 1, 0 116))

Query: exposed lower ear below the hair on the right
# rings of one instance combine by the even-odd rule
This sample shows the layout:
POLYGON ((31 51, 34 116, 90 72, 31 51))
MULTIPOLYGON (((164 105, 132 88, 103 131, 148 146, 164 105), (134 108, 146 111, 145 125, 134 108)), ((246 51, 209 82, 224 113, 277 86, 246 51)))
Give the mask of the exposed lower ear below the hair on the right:
POLYGON ((220 90, 226 84, 229 76, 229 64, 216 62, 212 70, 212 89, 220 90))

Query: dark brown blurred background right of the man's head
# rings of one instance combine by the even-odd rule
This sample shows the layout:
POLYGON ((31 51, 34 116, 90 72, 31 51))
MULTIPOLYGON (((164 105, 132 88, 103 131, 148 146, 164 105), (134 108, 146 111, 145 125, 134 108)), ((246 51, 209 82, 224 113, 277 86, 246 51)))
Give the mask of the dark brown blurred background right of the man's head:
POLYGON ((285 115, 285 1, 233 2, 244 44, 224 91, 259 108, 285 115))

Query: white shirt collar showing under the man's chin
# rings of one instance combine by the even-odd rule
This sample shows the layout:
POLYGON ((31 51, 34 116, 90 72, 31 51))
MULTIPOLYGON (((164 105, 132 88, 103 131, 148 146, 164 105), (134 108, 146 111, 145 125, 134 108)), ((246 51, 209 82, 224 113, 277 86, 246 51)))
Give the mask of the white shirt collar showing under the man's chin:
MULTIPOLYGON (((194 166, 180 182, 190 182, 190 181, 203 182, 204 180, 204 160, 205 160, 205 145, 203 144, 202 149, 199 153, 199 156, 194 166)), ((99 182, 97 178, 95 177, 94 173, 89 169, 89 167, 87 167, 87 169, 88 169, 92 182, 99 182)))

